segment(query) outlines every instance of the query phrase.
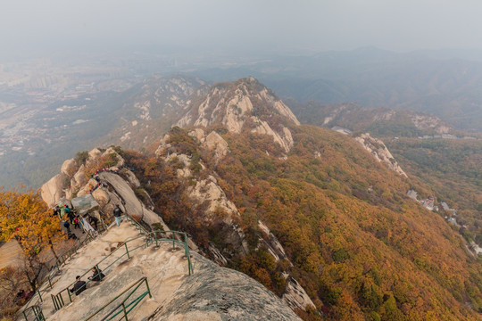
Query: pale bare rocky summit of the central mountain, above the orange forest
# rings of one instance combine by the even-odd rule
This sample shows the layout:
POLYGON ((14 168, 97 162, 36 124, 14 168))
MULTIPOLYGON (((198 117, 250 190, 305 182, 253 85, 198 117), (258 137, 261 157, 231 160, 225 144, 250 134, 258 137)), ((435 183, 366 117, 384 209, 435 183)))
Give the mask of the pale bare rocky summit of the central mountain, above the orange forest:
POLYGON ((253 77, 215 84, 189 102, 187 109, 179 127, 221 124, 232 133, 248 130, 272 136, 286 152, 293 145, 288 127, 300 124, 287 105, 253 77))

